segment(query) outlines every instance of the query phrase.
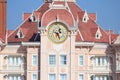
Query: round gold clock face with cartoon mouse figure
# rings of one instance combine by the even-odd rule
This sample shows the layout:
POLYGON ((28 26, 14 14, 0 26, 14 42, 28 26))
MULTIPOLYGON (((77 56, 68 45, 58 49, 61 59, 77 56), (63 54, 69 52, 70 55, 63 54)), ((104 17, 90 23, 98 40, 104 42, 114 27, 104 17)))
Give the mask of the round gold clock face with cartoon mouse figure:
POLYGON ((65 24, 55 22, 48 28, 48 37, 54 43, 62 43, 68 37, 68 29, 65 24))

